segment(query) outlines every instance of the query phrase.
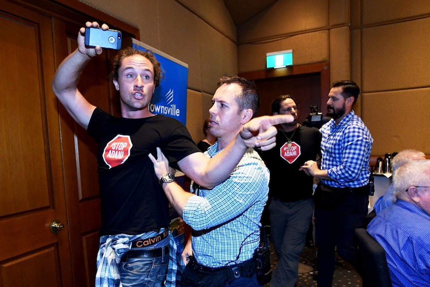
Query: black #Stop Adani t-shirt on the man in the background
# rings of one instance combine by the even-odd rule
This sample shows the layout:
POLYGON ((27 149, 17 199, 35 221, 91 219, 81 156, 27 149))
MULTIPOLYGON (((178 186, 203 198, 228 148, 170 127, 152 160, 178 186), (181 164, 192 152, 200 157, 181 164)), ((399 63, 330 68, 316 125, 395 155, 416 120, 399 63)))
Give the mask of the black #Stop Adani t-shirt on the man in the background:
POLYGON ((271 198, 284 202, 311 198, 313 178, 299 168, 307 160, 316 160, 319 153, 321 133, 318 129, 300 125, 294 134, 278 130, 276 147, 262 152, 262 159, 270 171, 271 198), (289 150, 286 149, 287 137, 292 142, 289 150))

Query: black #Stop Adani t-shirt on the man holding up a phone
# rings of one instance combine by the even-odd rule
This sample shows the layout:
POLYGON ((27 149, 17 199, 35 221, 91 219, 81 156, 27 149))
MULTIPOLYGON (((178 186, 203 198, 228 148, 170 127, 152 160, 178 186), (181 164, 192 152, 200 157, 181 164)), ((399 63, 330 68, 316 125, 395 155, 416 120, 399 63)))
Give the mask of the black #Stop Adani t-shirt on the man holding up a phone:
POLYGON ((168 228, 168 200, 148 154, 157 157, 156 147, 160 147, 177 168, 178 161, 200 152, 187 128, 163 115, 117 118, 96 108, 88 134, 99 144, 100 235, 137 235, 168 228))

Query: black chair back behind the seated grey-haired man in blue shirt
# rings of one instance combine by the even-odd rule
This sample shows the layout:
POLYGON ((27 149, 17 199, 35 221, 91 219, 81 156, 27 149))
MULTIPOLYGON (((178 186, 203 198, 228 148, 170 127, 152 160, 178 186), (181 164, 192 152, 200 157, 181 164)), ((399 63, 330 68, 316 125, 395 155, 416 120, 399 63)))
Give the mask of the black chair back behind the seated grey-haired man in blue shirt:
POLYGON ((393 287, 382 246, 364 228, 355 230, 362 266, 363 287, 393 287))

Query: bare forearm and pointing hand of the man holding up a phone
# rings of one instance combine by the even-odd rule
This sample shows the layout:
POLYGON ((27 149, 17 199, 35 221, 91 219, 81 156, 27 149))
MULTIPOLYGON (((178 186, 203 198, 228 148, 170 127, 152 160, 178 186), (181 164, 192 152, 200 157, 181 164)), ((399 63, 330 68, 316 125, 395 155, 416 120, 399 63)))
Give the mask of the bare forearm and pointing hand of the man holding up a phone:
POLYGON ((237 166, 248 147, 269 150, 276 145, 275 125, 292 122, 292 115, 261 116, 242 126, 236 137, 215 157, 203 153, 191 154, 178 162, 192 180, 208 189, 223 182, 237 166))

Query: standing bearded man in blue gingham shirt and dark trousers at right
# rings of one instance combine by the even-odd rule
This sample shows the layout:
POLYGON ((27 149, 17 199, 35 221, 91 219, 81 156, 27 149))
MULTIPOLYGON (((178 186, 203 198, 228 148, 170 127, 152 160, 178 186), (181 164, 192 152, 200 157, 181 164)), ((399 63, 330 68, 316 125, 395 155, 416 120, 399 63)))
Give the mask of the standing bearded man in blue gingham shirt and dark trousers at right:
POLYGON ((315 161, 301 168, 321 179, 314 194, 318 287, 332 286, 335 250, 360 272, 354 230, 364 227, 368 213, 373 139, 352 109, 359 93, 353 81, 332 84, 327 101, 332 119, 320 129, 321 169, 315 161))

